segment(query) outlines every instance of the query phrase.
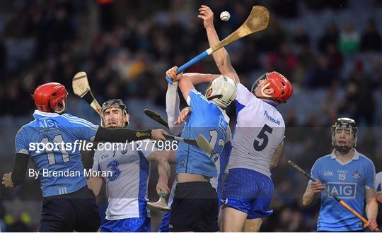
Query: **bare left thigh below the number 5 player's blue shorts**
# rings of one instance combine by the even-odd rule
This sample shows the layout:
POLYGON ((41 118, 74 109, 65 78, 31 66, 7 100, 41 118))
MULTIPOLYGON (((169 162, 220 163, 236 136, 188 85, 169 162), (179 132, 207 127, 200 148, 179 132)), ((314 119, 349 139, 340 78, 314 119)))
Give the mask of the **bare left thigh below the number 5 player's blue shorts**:
POLYGON ((223 203, 219 215, 219 227, 221 232, 242 232, 247 219, 247 213, 236 210, 223 203))

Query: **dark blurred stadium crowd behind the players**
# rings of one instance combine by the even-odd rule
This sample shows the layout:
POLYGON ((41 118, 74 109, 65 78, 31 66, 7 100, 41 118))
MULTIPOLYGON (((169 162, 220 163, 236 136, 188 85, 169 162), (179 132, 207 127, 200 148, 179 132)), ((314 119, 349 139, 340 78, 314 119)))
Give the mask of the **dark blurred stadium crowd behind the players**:
MULTIPOLYGON (((314 160, 330 153, 329 126, 337 117, 352 117, 359 123, 357 148, 374 161, 377 172, 382 170, 382 147, 377 141, 382 126, 378 98, 382 97, 382 25, 378 22, 382 3, 363 2, 255 1, 269 8, 269 27, 227 47, 245 86, 265 71, 279 71, 295 90, 294 97, 280 107, 287 141, 282 161, 272 171, 275 213, 262 230, 316 229, 318 206, 301 208, 306 179, 289 169, 286 161, 293 159, 309 170, 314 160)), ((129 103, 144 100, 164 109, 165 71, 208 47, 202 20, 197 18, 200 4, 214 11, 222 39, 248 17, 253 1, 1 1, 0 125, 13 122, 11 132, 15 132, 26 124, 24 119, 30 119, 34 109, 30 94, 37 85, 52 81, 70 92, 71 114, 94 117, 88 113, 90 108, 81 112, 73 107, 83 106, 71 94, 71 78, 78 71, 88 73, 100 102, 122 98, 134 109, 129 103), (219 20, 221 11, 231 13, 228 22, 219 20)), ((187 72, 218 71, 208 58, 187 72)), ((234 107, 228 114, 234 122, 234 107)), ((146 127, 139 121, 143 114, 136 115, 132 126, 146 127)), ((14 133, 0 130, 0 136, 4 141, 14 133)), ((1 166, 1 174, 13 165, 13 156, 4 148, 0 162, 8 165, 1 166)), ((27 183, 18 191, 33 189, 38 196, 38 181, 27 183)), ((5 198, 0 200, 0 229, 36 229, 40 209, 23 205, 20 194, 0 191, 0 198, 5 198)))

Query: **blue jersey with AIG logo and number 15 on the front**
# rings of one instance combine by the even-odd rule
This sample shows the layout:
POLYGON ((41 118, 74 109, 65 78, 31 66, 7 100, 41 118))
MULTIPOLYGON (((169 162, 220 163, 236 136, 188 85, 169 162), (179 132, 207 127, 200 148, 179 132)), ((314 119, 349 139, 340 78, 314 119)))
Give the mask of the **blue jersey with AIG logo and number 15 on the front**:
MULTIPOLYGON (((373 162, 354 150, 349 162, 337 160, 333 152, 320 157, 312 167, 313 179, 320 180, 333 194, 341 198, 361 215, 364 213, 365 189, 374 189, 373 162)), ((321 192, 321 208, 317 222, 320 231, 362 230, 362 222, 328 193, 321 192)))

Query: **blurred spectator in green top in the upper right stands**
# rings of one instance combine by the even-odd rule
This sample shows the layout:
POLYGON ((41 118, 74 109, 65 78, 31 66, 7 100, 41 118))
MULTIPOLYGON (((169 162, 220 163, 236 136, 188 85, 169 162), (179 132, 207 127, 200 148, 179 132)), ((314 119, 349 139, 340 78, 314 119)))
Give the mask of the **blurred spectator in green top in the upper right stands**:
POLYGON ((338 41, 338 49, 342 54, 354 54, 359 51, 360 38, 359 32, 354 28, 352 23, 347 23, 344 30, 340 34, 338 41))

